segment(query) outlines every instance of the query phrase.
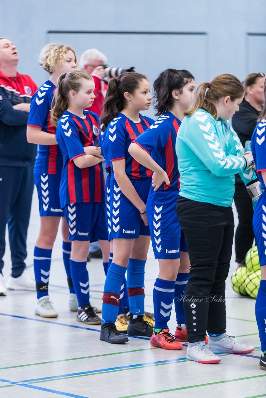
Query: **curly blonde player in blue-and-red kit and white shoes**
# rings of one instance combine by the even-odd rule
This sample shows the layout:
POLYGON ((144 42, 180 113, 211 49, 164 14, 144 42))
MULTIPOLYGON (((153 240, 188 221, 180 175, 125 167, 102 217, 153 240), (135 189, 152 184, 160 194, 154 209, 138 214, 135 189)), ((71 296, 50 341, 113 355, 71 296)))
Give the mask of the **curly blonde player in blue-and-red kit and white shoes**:
POLYGON ((60 207, 59 185, 63 168, 63 156, 55 139, 55 126, 50 119, 51 102, 62 73, 77 68, 75 51, 67 45, 47 44, 39 56, 39 64, 50 74, 32 97, 27 127, 28 142, 39 144, 34 165, 34 179, 39 198, 41 226, 34 248, 33 266, 37 290, 35 314, 56 318, 57 311, 49 300, 48 283, 51 254, 62 219, 63 262, 69 285, 69 309, 77 311, 77 296, 71 281, 69 258, 71 241, 68 239, 68 224, 60 207))

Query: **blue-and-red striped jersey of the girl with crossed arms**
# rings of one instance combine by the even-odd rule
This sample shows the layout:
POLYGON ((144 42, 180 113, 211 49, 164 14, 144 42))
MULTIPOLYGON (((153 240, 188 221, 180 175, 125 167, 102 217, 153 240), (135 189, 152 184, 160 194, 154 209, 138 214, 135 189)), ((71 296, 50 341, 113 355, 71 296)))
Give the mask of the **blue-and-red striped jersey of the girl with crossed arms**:
POLYGON ((59 190, 62 209, 69 203, 104 202, 102 164, 81 169, 73 162, 85 155, 84 146, 99 145, 99 116, 85 110, 83 114, 84 118, 65 111, 55 133, 64 162, 59 190))

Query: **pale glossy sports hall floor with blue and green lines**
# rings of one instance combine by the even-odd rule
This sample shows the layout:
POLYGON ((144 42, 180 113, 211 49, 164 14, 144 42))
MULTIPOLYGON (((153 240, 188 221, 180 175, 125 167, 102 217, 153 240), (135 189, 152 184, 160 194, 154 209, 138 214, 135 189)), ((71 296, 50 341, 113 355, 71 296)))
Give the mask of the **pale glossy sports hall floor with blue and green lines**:
MULTIPOLYGON (((28 234, 28 270, 33 277, 33 247, 39 228, 34 192, 28 234)), ((10 272, 9 248, 4 277, 10 272)), ((235 268, 232 261, 230 275, 235 268)), ((101 305, 104 271, 99 259, 89 263, 91 302, 101 305)), ((153 312, 152 291, 158 273, 152 250, 145 274, 146 310, 153 312)), ((266 372, 259 368, 260 341, 252 298, 240 297, 227 281, 227 331, 250 354, 221 355, 216 365, 186 360, 186 347, 166 351, 150 346, 148 338, 129 337, 125 345, 99 340, 100 326, 83 325, 68 308, 67 279, 61 255, 61 234, 53 250, 49 292, 57 319, 34 314, 35 292, 8 291, 0 297, 0 398, 172 398, 264 397, 266 372)), ((175 331, 172 311, 171 332, 175 331)))

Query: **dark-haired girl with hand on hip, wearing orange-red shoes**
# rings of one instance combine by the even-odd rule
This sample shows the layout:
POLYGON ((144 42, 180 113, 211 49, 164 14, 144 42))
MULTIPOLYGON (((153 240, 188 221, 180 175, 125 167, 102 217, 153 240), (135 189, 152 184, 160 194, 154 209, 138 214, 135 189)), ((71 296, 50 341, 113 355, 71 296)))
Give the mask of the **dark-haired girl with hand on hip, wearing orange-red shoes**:
POLYGON ((194 91, 195 80, 187 70, 162 72, 154 82, 156 115, 160 117, 129 147, 137 162, 154 171, 146 211, 160 272, 154 284, 155 326, 151 345, 164 349, 181 349, 183 345, 177 340, 187 341, 183 294, 190 263, 175 210, 179 193, 175 141, 194 91), (173 300, 177 316, 175 336, 167 326, 173 300))

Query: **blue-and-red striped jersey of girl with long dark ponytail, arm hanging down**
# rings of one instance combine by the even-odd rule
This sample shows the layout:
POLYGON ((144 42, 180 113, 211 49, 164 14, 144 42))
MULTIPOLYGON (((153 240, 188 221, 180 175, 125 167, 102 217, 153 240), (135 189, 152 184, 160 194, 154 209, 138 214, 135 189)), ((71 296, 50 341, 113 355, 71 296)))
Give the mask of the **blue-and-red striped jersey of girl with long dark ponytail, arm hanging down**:
POLYGON ((126 175, 130 179, 150 178, 152 171, 136 162, 128 153, 128 147, 139 135, 154 123, 150 117, 140 115, 140 121, 135 123, 119 112, 104 131, 102 139, 102 154, 106 167, 110 165, 111 179, 114 179, 112 162, 125 159, 126 175))

